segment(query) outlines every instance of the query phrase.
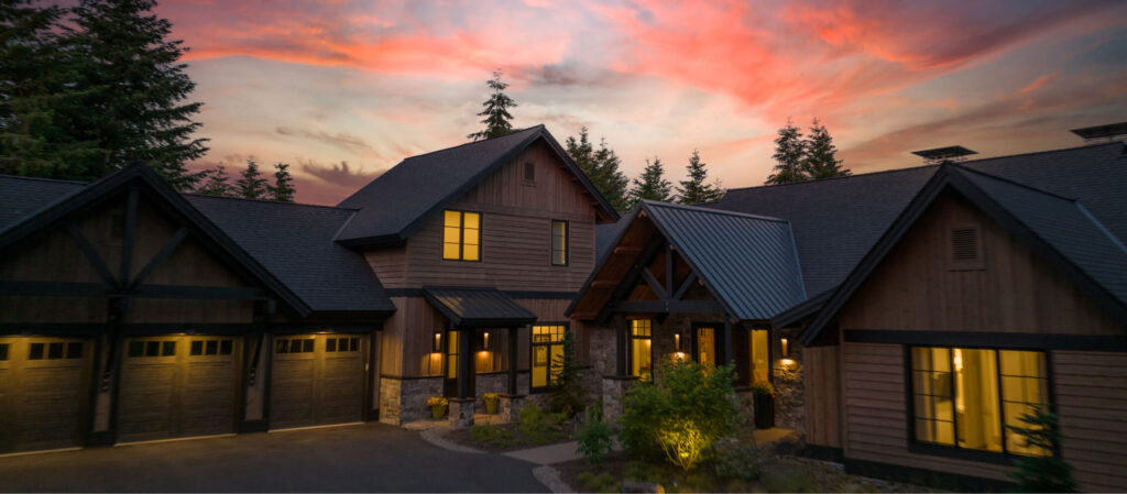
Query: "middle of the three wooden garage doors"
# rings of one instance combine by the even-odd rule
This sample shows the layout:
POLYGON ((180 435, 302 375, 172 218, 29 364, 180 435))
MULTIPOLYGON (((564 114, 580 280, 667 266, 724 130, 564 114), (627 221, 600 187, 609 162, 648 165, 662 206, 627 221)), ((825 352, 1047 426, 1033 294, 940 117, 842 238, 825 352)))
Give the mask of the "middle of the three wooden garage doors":
POLYGON ((230 336, 126 339, 118 442, 234 432, 238 354, 230 336))

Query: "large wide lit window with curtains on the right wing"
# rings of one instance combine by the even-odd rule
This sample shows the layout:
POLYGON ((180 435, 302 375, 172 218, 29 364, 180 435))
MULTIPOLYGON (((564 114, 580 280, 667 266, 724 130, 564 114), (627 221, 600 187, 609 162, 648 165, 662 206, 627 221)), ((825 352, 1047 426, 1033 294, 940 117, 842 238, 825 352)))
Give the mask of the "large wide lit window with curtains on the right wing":
POLYGON ((1048 404, 1044 352, 912 349, 912 409, 917 442, 1012 455, 1026 448, 1005 425, 1048 404))

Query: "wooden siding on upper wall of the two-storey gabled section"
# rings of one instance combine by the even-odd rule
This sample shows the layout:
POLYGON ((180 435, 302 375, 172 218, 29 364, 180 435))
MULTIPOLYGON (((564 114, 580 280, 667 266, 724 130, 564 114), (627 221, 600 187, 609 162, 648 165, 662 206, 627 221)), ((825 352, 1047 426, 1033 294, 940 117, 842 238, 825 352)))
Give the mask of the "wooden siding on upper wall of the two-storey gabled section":
POLYGON ((570 173, 544 147, 533 147, 487 177, 449 209, 481 212, 481 262, 443 261, 443 218, 436 214, 406 248, 370 253, 384 286, 495 286, 576 292, 595 264, 595 209, 570 173), (524 164, 536 168, 524 183, 524 164), (551 220, 567 220, 569 264, 551 264, 551 220), (385 280, 387 276, 387 280, 385 280))

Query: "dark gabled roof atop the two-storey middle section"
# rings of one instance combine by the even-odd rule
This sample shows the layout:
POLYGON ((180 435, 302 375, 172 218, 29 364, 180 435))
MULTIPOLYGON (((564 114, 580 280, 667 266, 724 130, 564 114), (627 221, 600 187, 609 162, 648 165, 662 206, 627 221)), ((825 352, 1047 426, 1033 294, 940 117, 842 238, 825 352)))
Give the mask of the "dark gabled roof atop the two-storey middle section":
POLYGON ((543 125, 499 138, 469 142, 402 160, 338 204, 358 210, 337 241, 348 246, 400 242, 446 204, 456 201, 497 171, 517 153, 536 142, 547 143, 576 176, 600 215, 618 220, 618 213, 571 161, 543 125))

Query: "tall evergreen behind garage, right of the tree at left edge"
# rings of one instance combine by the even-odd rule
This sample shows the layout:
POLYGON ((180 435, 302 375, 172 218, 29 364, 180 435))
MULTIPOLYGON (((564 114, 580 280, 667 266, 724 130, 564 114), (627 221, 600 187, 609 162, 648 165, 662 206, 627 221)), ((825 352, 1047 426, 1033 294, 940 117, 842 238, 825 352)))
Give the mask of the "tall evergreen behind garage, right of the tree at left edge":
POLYGON ((79 140, 95 140, 99 175, 124 164, 152 167, 178 191, 202 178, 186 164, 207 152, 202 125, 192 117, 201 103, 186 103, 195 82, 184 73, 183 41, 169 41, 171 23, 153 15, 154 0, 81 0, 65 26, 65 46, 78 68, 79 87, 91 91, 71 118, 79 140))

